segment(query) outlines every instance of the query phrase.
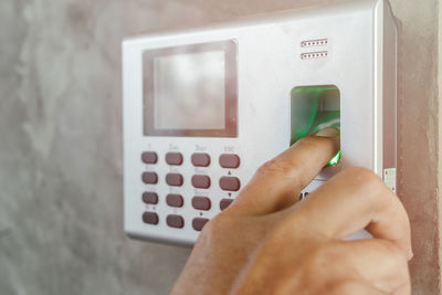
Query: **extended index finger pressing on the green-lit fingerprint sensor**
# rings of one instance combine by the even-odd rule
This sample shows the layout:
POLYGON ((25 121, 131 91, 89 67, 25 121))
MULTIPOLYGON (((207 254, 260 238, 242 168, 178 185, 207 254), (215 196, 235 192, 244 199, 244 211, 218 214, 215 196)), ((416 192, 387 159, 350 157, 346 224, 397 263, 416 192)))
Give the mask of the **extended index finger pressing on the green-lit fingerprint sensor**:
POLYGON ((339 150, 338 131, 325 129, 325 133, 327 137, 320 134, 302 138, 261 166, 229 210, 265 214, 296 202, 301 191, 339 150))

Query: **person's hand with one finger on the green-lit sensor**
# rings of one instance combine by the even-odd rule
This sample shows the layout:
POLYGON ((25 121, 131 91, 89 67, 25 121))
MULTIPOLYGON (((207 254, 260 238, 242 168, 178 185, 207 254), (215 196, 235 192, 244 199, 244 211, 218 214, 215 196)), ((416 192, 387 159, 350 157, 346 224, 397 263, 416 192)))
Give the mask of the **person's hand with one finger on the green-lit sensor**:
POLYGON ((298 200, 338 143, 327 130, 264 164, 206 224, 171 294, 410 294, 409 219, 379 177, 349 168, 298 200), (344 241, 362 229, 373 239, 344 241))

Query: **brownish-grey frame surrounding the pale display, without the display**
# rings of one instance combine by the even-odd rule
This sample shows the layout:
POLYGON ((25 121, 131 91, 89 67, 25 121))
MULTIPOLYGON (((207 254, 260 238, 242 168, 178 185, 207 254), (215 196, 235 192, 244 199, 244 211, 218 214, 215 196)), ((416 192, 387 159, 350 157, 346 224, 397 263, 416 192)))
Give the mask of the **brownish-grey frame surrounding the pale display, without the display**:
POLYGON ((176 137, 238 137, 238 50, 234 40, 180 45, 147 50, 144 60, 144 135, 176 137), (223 51, 225 61, 224 77, 224 128, 223 129, 156 129, 155 128, 155 83, 154 61, 157 57, 223 51))

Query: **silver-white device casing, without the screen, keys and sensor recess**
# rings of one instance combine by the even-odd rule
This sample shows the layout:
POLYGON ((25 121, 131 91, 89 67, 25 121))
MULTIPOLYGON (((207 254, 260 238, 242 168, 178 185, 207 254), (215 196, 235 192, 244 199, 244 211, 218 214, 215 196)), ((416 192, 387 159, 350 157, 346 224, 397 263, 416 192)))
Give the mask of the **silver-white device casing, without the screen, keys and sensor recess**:
MULTIPOLYGON (((239 191, 224 191, 219 180, 236 177, 241 187, 266 160, 290 147, 291 99, 296 86, 336 85, 340 92, 341 167, 366 167, 396 189, 397 27, 390 6, 382 0, 358 0, 266 14, 227 24, 182 32, 168 32, 125 40, 124 78, 124 215, 125 231, 134 238, 193 244, 199 231, 194 218, 211 219, 220 212, 222 199, 239 191), (326 43, 320 43, 325 41, 326 43), (144 133, 144 54, 200 43, 235 44, 238 129, 233 137, 146 136, 144 133), (318 41, 315 44, 315 41, 318 41), (309 42, 309 43, 308 43, 309 42), (318 54, 318 55, 317 55, 318 54), (155 151, 158 161, 146 165, 144 151, 155 151), (183 161, 170 166, 165 155, 178 151, 183 161), (194 167, 194 152, 210 155, 209 167, 194 167), (238 169, 219 165, 222 154, 241 159, 238 169), (152 171, 158 182, 145 185, 141 175, 152 171), (180 173, 182 186, 166 183, 170 172, 180 173), (211 179, 208 189, 191 183, 194 175, 211 179), (141 196, 152 191, 156 204, 141 196), (183 197, 182 207, 166 203, 169 193, 183 197), (192 207, 194 196, 208 197, 210 210, 192 207), (157 224, 146 224, 145 212, 158 215, 157 224), (168 215, 181 215, 182 228, 167 224, 168 215)), ((322 173, 306 189, 312 191, 328 179, 322 173)))

